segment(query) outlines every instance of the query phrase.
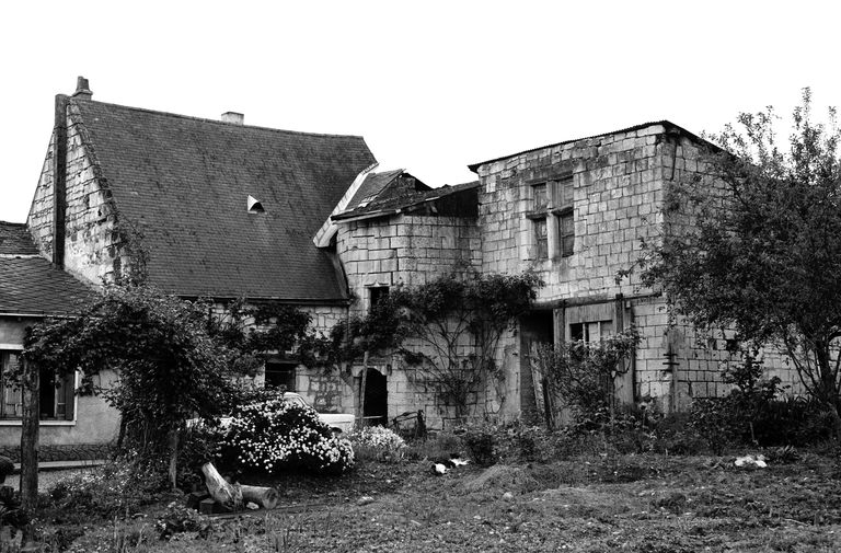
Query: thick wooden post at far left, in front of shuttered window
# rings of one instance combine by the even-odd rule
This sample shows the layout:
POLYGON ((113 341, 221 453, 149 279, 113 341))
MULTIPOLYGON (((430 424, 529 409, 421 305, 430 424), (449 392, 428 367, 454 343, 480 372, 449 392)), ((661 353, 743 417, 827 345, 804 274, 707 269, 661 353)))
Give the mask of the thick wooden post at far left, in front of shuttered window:
POLYGON ((41 426, 41 382, 36 366, 21 359, 23 419, 21 420, 21 508, 38 505, 38 431, 41 426))

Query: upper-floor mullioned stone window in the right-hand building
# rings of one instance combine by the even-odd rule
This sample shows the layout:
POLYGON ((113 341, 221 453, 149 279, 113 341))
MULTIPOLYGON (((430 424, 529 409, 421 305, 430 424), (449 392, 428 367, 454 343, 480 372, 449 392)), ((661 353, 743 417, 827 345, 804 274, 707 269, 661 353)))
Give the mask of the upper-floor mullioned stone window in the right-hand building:
POLYGON ((538 260, 557 260, 575 253, 573 175, 528 181, 532 209, 526 218, 533 222, 538 260), (544 245, 545 244, 545 245, 544 245))

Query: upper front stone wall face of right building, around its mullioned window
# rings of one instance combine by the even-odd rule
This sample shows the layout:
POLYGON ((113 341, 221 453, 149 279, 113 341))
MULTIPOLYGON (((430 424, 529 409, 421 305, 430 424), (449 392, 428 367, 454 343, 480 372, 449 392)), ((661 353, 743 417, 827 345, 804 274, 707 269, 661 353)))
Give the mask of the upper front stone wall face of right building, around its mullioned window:
MULTIPOLYGON (((661 125, 548 147, 482 164, 477 173, 482 269, 537 270, 546 283, 539 301, 641 291, 638 277, 617 284, 637 256, 640 240, 660 231, 661 125), (574 254, 538 260, 532 186, 572 175, 574 254)), ((645 290, 642 290, 645 291, 645 290)))

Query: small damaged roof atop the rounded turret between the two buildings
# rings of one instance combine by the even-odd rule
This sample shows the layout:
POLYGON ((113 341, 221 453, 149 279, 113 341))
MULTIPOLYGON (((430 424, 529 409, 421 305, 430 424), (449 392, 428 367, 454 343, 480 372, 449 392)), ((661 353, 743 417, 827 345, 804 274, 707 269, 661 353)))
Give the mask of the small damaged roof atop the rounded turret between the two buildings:
POLYGON ((334 221, 352 221, 389 217, 398 214, 415 214, 439 217, 477 217, 479 216, 479 181, 445 185, 430 188, 406 172, 392 178, 375 198, 366 201, 360 193, 361 201, 356 207, 334 215, 334 221))

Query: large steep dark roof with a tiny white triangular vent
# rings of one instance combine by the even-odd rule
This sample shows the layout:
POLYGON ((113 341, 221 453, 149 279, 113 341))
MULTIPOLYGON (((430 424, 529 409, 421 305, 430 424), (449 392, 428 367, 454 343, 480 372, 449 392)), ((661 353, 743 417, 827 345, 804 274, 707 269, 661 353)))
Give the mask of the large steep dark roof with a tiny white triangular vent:
POLYGON ((153 284, 181 296, 346 298, 312 237, 375 161, 361 137, 70 102, 118 217, 143 235, 153 284), (249 212, 249 196, 263 212, 249 212))

